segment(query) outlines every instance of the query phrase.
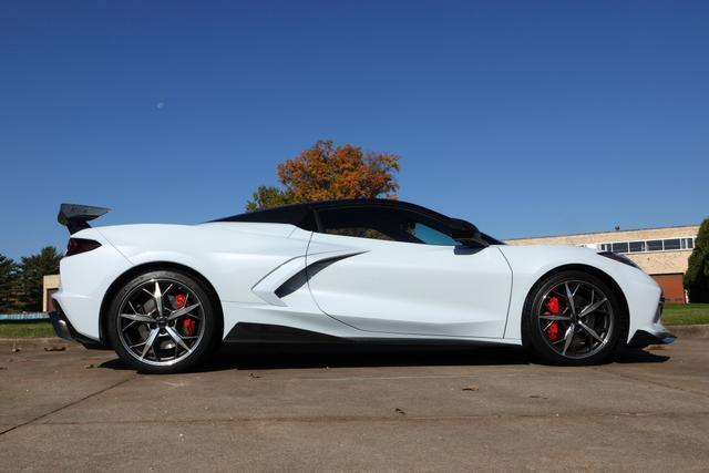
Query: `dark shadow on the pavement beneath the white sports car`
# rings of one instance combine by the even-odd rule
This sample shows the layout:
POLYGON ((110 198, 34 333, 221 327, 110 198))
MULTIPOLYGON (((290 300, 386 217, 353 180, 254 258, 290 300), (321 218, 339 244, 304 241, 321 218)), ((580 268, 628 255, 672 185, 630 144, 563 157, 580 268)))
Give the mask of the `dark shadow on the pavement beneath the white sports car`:
MULTIPOLYGON (((645 350, 625 349, 613 362, 658 363, 669 359, 645 350)), ((537 363, 520 347, 326 345, 326 343, 226 343, 198 368, 198 372, 308 368, 377 368, 436 366, 514 366, 537 363)), ((127 370, 120 359, 101 368, 127 370)))

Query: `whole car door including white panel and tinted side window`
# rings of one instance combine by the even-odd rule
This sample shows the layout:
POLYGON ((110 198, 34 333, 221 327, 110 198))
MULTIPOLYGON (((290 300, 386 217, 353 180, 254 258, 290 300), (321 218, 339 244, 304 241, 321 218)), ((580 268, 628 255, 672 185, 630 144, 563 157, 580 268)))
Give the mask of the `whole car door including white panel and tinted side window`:
POLYGON ((370 332, 503 336, 512 273, 496 247, 464 247, 409 209, 326 208, 318 220, 308 258, 320 260, 307 267, 325 313, 370 332))

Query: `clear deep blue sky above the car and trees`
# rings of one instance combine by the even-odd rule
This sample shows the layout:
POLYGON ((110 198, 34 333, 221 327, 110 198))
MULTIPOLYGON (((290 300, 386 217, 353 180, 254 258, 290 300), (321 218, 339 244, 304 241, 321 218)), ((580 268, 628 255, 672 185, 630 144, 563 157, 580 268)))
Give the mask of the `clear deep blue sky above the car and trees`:
POLYGON ((320 137, 499 237, 709 216, 709 3, 0 4, 0 253, 239 213, 320 137))

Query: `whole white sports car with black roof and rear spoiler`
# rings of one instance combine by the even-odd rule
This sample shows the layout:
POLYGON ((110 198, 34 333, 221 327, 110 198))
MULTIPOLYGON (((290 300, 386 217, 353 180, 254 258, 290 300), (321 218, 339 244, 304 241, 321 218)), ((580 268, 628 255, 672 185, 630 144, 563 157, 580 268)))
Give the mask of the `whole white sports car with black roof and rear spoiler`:
POLYGON ((144 372, 201 363, 222 342, 522 345, 588 364, 668 343, 660 288, 633 261, 573 246, 506 246, 398 200, 315 202, 199 225, 91 228, 107 209, 62 204, 71 235, 56 333, 144 372))

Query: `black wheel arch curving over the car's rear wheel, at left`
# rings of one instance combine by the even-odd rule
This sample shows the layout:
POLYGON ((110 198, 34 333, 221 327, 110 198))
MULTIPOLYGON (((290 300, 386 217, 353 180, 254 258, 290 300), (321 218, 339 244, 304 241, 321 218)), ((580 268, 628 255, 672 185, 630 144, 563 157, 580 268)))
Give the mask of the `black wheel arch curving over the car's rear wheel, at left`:
POLYGON ((154 270, 176 270, 176 271, 185 273, 186 275, 204 284, 205 288, 209 292, 209 296, 213 298, 214 307, 216 308, 217 315, 219 317, 219 322, 222 323, 222 327, 224 327, 224 311, 222 309, 222 301, 219 299, 219 295, 217 294, 212 282, 209 282, 209 280, 206 277, 204 277, 204 275, 191 268, 189 266, 185 266, 179 263, 150 261, 150 263, 143 263, 141 265, 134 266, 129 270, 126 270, 125 273, 123 273, 111 284, 111 286, 109 286, 109 289, 103 295, 103 300, 101 301, 101 310, 99 312, 99 337, 102 345, 106 345, 106 346, 109 345, 109 339, 106 337, 106 322, 107 322, 106 312, 109 311, 111 301, 113 300, 113 297, 115 296, 117 290, 129 279, 137 275, 141 275, 143 273, 154 271, 154 270))

